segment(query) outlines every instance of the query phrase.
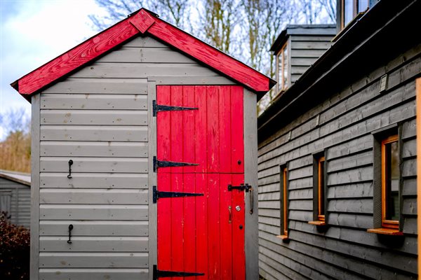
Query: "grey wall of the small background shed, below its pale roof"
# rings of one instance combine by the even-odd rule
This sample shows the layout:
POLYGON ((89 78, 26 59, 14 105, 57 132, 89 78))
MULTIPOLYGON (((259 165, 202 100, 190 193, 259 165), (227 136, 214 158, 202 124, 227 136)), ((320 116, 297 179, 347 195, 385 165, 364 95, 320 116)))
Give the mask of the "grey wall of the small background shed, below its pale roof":
POLYGON ((30 186, 6 179, 0 174, 0 200, 0 209, 8 211, 11 223, 29 229, 31 219, 30 186))

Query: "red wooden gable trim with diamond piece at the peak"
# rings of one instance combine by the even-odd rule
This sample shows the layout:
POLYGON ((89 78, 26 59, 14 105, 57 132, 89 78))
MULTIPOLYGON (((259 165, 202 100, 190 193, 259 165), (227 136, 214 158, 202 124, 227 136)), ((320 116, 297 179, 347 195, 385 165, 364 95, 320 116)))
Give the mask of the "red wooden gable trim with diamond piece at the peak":
POLYGON ((138 13, 105 29, 72 50, 23 76, 12 86, 23 97, 29 99, 32 94, 136 36, 139 32, 159 38, 260 94, 267 92, 275 84, 274 80, 255 69, 168 22, 154 17, 147 10, 140 9, 138 13))

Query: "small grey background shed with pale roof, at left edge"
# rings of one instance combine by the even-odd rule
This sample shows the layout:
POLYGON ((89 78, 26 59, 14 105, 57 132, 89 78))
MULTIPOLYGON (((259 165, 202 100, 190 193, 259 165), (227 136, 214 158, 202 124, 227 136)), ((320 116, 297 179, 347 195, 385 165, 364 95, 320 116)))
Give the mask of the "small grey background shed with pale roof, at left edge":
POLYGON ((0 211, 13 225, 29 229, 31 218, 31 175, 0 170, 0 211))

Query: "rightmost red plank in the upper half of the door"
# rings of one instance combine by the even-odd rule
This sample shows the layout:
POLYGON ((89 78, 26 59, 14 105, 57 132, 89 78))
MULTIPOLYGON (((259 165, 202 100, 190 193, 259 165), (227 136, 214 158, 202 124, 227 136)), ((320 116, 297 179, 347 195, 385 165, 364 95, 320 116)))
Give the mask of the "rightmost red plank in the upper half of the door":
POLYGON ((243 88, 231 87, 232 172, 244 173, 243 88))

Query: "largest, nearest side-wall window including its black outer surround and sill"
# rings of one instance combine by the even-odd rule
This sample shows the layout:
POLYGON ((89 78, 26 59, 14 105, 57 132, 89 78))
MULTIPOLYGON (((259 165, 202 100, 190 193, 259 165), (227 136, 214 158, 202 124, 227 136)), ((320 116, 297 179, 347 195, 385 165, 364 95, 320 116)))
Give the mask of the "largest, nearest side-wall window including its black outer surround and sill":
POLYGON ((398 127, 387 128, 374 134, 373 145, 373 225, 368 229, 382 235, 403 235, 401 219, 398 127), (377 210, 376 210, 377 209, 377 210))

